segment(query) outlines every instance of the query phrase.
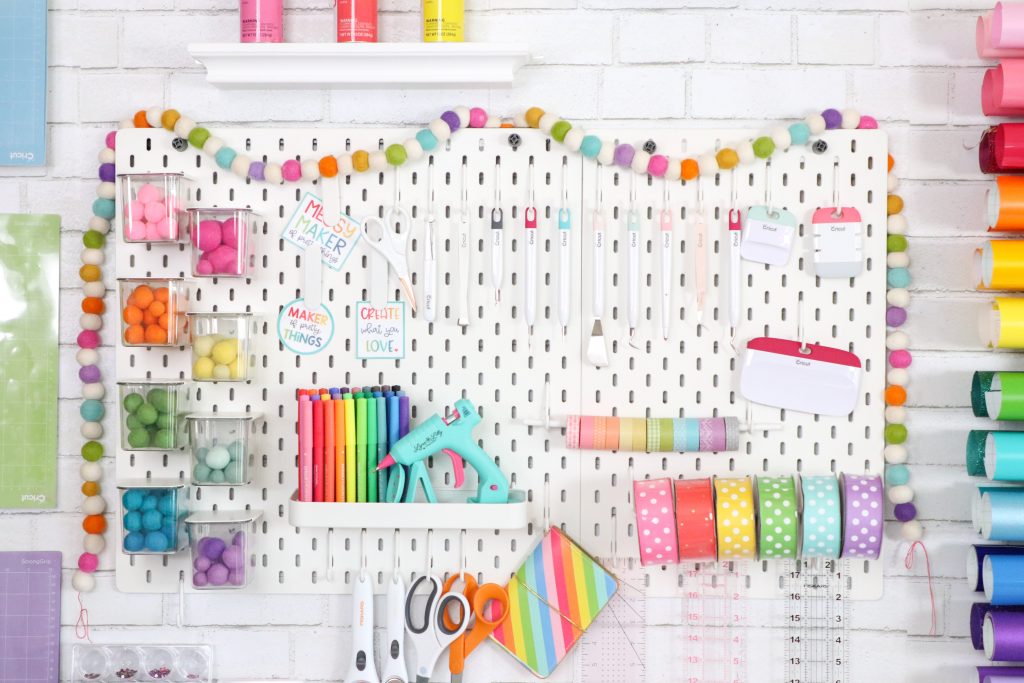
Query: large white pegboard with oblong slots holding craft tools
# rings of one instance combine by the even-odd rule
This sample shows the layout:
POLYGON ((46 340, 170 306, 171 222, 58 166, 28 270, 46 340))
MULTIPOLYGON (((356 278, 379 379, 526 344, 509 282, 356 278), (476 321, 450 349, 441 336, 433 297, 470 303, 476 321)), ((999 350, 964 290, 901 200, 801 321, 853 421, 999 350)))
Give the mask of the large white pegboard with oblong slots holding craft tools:
MULTIPOLYGON (((728 292, 723 274, 727 257, 725 211, 731 191, 731 173, 701 180, 709 212, 710 259, 707 329, 697 330, 689 310, 693 285, 692 249, 686 238, 696 207, 696 182, 672 183, 669 198, 676 218, 673 233, 676 254, 673 323, 668 341, 662 340, 658 296, 660 258, 656 242, 657 212, 663 205, 663 181, 637 179, 638 208, 644 217, 642 269, 644 282, 641 348, 626 341, 625 209, 629 201, 629 175, 604 169, 604 208, 608 223, 607 292, 604 329, 609 338, 611 365, 596 370, 584 359, 590 334, 589 213, 595 197, 595 166, 566 153, 537 131, 516 131, 518 148, 508 143, 509 130, 472 130, 456 135, 450 148, 434 155, 436 165, 435 212, 438 221, 437 321, 408 321, 407 357, 400 361, 354 358, 351 336, 354 302, 367 298, 368 254, 360 245, 341 273, 325 269, 325 303, 337 326, 328 350, 297 356, 284 350, 273 336, 280 307, 301 296, 302 255, 280 239, 284 223, 306 190, 322 194, 319 183, 270 186, 252 184, 218 169, 207 156, 189 148, 179 153, 164 132, 126 130, 118 134, 119 173, 182 171, 196 180, 197 191, 188 206, 251 206, 265 217, 257 244, 256 269, 249 280, 197 280, 194 310, 252 310, 263 315, 266 333, 259 340, 255 379, 246 384, 195 385, 195 408, 244 410, 265 417, 264 434, 256 458, 253 482, 244 487, 193 488, 193 508, 251 506, 264 512, 262 567, 248 590, 276 593, 346 593, 352 570, 359 563, 357 531, 295 528, 288 523, 288 499, 296 485, 294 391, 307 386, 400 384, 414 405, 414 421, 443 412, 457 398, 468 397, 482 412, 476 436, 509 476, 514 488, 526 492, 532 524, 522 531, 399 532, 402 571, 407 575, 426 565, 428 552, 437 571, 459 566, 460 547, 467 566, 482 578, 503 581, 522 560, 543 532, 544 502, 549 517, 562 525, 589 552, 598 557, 636 554, 633 511, 628 500, 632 477, 710 476, 758 473, 863 472, 881 473, 885 373, 885 224, 886 138, 879 131, 833 131, 829 151, 822 156, 797 147, 772 160, 773 203, 793 211, 801 221, 800 236, 785 268, 744 263, 743 324, 739 339, 771 334, 795 337, 797 301, 806 302, 809 341, 849 348, 864 360, 863 400, 849 418, 825 418, 755 407, 759 422, 781 422, 774 432, 743 434, 735 454, 611 454, 572 452, 564 449, 557 430, 528 428, 518 421, 536 417, 541 410, 544 383, 549 381, 554 413, 584 413, 626 417, 742 417, 744 401, 736 391, 736 359, 724 322, 728 292), (461 164, 466 158, 471 181, 473 215, 471 302, 468 328, 456 324, 458 268, 456 230, 460 207, 461 164), (502 303, 495 305, 490 288, 489 212, 494 204, 495 162, 501 158, 502 203, 505 211, 505 286, 502 303), (536 169, 540 230, 540 285, 538 324, 532 349, 527 345, 522 314, 523 251, 522 207, 527 198, 529 159, 536 169), (557 314, 558 253, 556 213, 560 204, 563 157, 567 160, 569 202, 572 211, 574 253, 572 319, 562 338, 557 314), (819 281, 810 274, 810 236, 805 230, 810 212, 828 205, 833 196, 834 161, 839 161, 840 198, 856 206, 863 217, 865 271, 855 280, 819 281), (719 309, 722 313, 719 313, 719 309), (723 321, 725 327, 719 323, 723 321)), ((241 130, 221 132, 225 142, 256 159, 266 154, 276 160, 316 159, 344 148, 376 150, 382 140, 401 140, 409 130, 241 130)), ((605 131, 603 137, 641 143, 649 131, 605 131)), ((659 151, 681 155, 715 148, 742 139, 752 131, 660 130, 659 151)), ((426 214, 426 159, 403 167, 398 175, 402 204, 414 217, 411 265, 414 282, 422 265, 422 229, 426 214)), ((753 172, 737 172, 741 207, 764 201, 764 165, 753 172)), ((355 218, 379 215, 394 196, 394 171, 353 176, 341 184, 341 202, 355 218)), ((808 221, 809 222, 809 221, 808 221)), ((119 228, 120 234, 120 228, 119 228)), ((129 245, 119 237, 117 274, 188 274, 187 246, 129 245)), ((416 282, 417 296, 422 288, 416 282)), ((390 290, 400 298, 392 278, 390 290)), ((182 349, 117 347, 118 379, 136 377, 188 378, 189 354, 182 349)), ((446 459, 436 463, 435 486, 451 485, 446 459), (442 477, 439 473, 445 472, 442 477)), ((130 454, 119 452, 119 478, 187 476, 186 453, 130 454)), ((467 486, 475 476, 467 472, 467 486)), ((370 529, 367 554, 383 592, 393 561, 395 532, 370 529)), ((118 586, 124 591, 174 592, 187 569, 187 554, 173 558, 119 554, 118 586)), ((769 596, 778 591, 775 567, 750 563, 751 594, 769 596)), ((680 595, 685 567, 651 570, 651 595, 680 595)), ((881 595, 879 563, 865 563, 863 573, 852 578, 853 597, 881 595)), ((187 583, 187 582, 186 582, 187 583)))

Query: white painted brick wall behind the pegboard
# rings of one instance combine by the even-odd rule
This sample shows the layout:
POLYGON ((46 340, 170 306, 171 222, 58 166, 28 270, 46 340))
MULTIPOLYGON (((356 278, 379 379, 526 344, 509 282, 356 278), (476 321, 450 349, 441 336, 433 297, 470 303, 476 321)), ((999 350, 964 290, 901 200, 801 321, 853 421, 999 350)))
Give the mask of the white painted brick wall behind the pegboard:
MULTIPOLYGON (((418 124, 457 102, 511 114, 540 104, 575 120, 696 120, 759 124, 808 109, 856 106, 891 133, 911 225, 916 350, 910 391, 911 453, 929 527, 939 631, 929 637, 924 562, 903 567, 903 547, 884 559, 885 602, 856 605, 852 680, 967 680, 981 657, 965 640, 975 599, 964 587, 970 483, 963 470, 967 410, 976 368, 1019 367, 974 340, 983 298, 971 292, 970 259, 984 234, 976 144, 986 125, 974 55, 974 20, 993 0, 471 0, 468 35, 522 39, 543 62, 497 90, 231 92, 206 85, 188 41, 233 40, 236 0, 50 0, 50 166, 0 170, 0 211, 57 212, 66 289, 61 313, 60 417, 77 425, 74 364, 78 250, 93 199, 95 154, 115 122, 142 106, 174 105, 215 126, 418 124), (825 9, 822 9, 825 8, 825 9), (949 321, 953 321, 953 325, 949 321), (941 672, 941 673, 940 673, 941 672)), ((333 0, 286 0, 291 40, 328 40, 333 0)), ((381 0, 387 40, 416 40, 418 0, 381 0)), ((110 315, 108 316, 111 317, 110 315)), ((112 362, 103 371, 111 377, 112 362)), ((56 547, 70 573, 81 531, 76 512, 80 439, 61 433, 60 508, 0 513, 0 549, 56 547)), ((106 463, 111 471, 111 463, 106 463)), ((108 479, 108 490, 110 482, 108 479)), ((109 494, 108 494, 109 496, 109 494)), ((889 535, 898 532, 890 525, 889 535)), ((102 565, 113 564, 113 550, 102 565)), ((349 603, 332 597, 188 597, 177 627, 176 596, 122 595, 98 574, 86 598, 96 642, 208 642, 221 678, 338 680, 347 666, 349 603), (259 656, 253 656, 253 653, 259 656)), ((662 609, 675 613, 678 610, 662 609)), ((758 613, 770 612, 760 607, 758 613)), ((75 641, 77 602, 68 593, 65 642, 75 641)), ((678 618, 652 620, 650 642, 672 642, 678 618)), ((753 636, 753 634, 752 634, 753 636)), ((780 636, 757 639, 752 658, 780 661, 780 636)), ((66 647, 66 650, 68 648, 66 647)), ((67 654, 67 652, 66 652, 67 654)), ((529 680, 492 650, 470 659, 467 680, 529 680), (490 672, 486 674, 485 672, 490 672)), ((670 680, 673 657, 648 648, 648 680, 670 680)), ((780 678, 773 666, 771 680, 780 678)), ((554 680, 571 680, 571 667, 554 680)), ((752 681, 769 680, 767 674, 752 681)), ((678 678, 676 676, 675 678, 678 678)))

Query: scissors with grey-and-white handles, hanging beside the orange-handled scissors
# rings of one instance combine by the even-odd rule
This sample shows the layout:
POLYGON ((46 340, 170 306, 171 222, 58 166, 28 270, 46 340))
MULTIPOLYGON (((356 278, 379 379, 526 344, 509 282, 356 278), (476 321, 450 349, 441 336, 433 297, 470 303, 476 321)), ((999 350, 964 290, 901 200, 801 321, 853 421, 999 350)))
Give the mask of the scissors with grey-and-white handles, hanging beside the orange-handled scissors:
MULTIPOLYGON (((449 611, 450 616, 456 610, 449 611)), ((413 582, 406 595, 406 629, 409 639, 413 642, 416 652, 416 683, 430 683, 430 675, 440 658, 441 652, 458 640, 469 626, 469 600, 462 593, 442 593, 441 580, 433 574, 422 575, 413 582), (427 604, 423 609, 422 624, 414 624, 413 598, 420 584, 429 582, 430 593, 427 594, 427 604), (452 620, 456 628, 450 629, 444 624, 444 612, 449 607, 458 605, 458 621, 452 620)))

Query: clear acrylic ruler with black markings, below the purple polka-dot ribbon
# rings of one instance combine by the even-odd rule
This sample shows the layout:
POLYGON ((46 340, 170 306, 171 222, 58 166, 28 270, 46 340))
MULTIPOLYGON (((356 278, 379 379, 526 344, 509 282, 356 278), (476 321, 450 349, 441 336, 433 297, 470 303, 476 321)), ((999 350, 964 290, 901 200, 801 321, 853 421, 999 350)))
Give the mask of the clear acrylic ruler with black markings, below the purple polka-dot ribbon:
POLYGON ((849 560, 804 559, 785 572, 786 683, 850 680, 849 560))

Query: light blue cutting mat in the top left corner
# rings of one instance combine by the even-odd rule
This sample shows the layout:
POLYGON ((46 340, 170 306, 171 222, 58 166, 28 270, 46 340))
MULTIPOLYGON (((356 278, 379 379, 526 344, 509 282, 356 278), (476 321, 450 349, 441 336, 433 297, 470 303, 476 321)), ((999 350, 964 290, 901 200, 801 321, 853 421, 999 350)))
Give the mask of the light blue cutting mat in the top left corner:
POLYGON ((46 0, 0 0, 0 166, 46 163, 46 0))

